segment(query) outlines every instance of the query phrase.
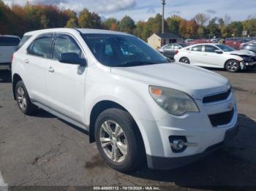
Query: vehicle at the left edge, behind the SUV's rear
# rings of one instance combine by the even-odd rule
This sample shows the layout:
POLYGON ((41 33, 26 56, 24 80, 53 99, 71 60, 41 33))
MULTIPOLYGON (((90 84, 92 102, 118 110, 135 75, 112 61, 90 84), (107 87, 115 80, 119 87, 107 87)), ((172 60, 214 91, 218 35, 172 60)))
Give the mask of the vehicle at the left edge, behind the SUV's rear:
POLYGON ((12 54, 19 42, 18 36, 0 35, 0 69, 11 69, 12 54))

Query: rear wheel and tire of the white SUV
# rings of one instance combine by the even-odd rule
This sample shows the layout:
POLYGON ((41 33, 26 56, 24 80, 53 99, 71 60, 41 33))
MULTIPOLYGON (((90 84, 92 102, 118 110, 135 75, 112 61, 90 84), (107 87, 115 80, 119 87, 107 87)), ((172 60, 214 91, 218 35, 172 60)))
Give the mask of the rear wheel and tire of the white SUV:
POLYGON ((29 93, 22 81, 19 81, 15 86, 15 96, 18 107, 23 114, 34 114, 37 112, 37 106, 31 103, 29 93))

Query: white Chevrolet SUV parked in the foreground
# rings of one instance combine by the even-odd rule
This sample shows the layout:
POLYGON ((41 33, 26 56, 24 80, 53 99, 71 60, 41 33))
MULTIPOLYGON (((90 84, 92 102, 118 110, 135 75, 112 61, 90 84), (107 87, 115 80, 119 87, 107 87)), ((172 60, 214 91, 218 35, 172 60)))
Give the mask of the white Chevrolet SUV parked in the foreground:
POLYGON ((32 31, 15 52, 12 85, 24 114, 37 108, 89 131, 118 171, 191 163, 236 134, 236 99, 219 74, 167 63, 135 36, 56 28, 32 31))

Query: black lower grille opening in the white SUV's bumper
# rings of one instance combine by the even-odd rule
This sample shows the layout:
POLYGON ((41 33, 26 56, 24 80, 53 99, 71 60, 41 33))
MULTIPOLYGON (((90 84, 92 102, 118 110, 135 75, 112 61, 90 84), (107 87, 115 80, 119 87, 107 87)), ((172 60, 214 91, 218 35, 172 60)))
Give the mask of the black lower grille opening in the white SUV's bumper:
POLYGON ((218 125, 226 125, 227 123, 229 123, 232 120, 233 114, 234 114, 234 109, 232 109, 229 112, 211 114, 211 115, 208 115, 208 117, 211 121, 211 125, 216 127, 218 125))

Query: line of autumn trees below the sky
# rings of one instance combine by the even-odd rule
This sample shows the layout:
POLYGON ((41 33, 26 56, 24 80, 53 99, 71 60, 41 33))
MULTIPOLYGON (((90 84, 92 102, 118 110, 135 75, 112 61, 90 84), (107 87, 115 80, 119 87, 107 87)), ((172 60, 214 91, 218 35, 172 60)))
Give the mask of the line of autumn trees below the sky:
MULTIPOLYGON (((244 21, 232 21, 229 15, 225 17, 209 17, 198 13, 191 20, 178 15, 165 18, 165 32, 178 34, 184 38, 213 38, 242 36, 256 36, 256 18, 248 17, 244 21)), ((102 19, 97 13, 83 9, 79 14, 71 9, 59 9, 54 5, 12 4, 9 7, 0 0, 0 34, 13 34, 22 36, 26 31, 42 28, 102 28, 112 31, 123 31, 135 34, 146 41, 151 34, 161 32, 162 15, 149 17, 147 21, 132 20, 124 16, 121 20, 114 17, 102 19)))

